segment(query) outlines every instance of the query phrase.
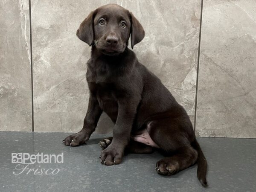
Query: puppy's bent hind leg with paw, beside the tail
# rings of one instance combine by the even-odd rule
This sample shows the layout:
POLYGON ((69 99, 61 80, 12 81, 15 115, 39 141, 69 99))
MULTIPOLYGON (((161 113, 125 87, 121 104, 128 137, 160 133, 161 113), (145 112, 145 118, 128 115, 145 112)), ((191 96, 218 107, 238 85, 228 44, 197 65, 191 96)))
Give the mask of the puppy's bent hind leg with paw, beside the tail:
MULTIPOLYGON (((183 119, 184 120, 184 119, 183 119)), ((167 154, 156 163, 157 173, 173 175, 192 166, 198 158, 198 152, 192 148, 189 138, 193 139, 189 123, 180 123, 178 118, 158 119, 147 126, 151 139, 167 154)), ((192 126, 192 125, 191 125, 192 126)))

